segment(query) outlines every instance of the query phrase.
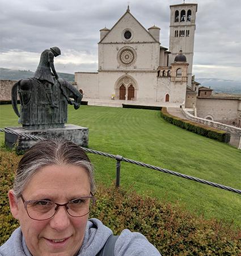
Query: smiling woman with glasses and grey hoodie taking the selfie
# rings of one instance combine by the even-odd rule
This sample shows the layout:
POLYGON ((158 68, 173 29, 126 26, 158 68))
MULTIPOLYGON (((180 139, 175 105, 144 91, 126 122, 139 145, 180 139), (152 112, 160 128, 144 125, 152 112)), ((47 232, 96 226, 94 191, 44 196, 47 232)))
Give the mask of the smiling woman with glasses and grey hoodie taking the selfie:
MULTIPOLYGON (((112 231, 96 218, 93 168, 85 152, 60 139, 35 144, 20 160, 9 191, 12 216, 19 220, 0 255, 95 256, 112 231)), ((142 234, 128 229, 114 255, 160 255, 142 234)))

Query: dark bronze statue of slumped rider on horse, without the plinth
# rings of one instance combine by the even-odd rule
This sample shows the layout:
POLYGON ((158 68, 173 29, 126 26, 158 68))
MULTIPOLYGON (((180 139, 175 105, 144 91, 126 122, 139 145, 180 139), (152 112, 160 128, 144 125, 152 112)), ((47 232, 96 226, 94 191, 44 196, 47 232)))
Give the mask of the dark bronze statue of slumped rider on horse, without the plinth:
POLYGON ((22 79, 12 87, 12 107, 23 129, 65 127, 67 104, 74 105, 74 109, 81 105, 82 94, 69 82, 59 79, 54 69, 53 59, 60 54, 58 47, 45 49, 34 77, 22 79))

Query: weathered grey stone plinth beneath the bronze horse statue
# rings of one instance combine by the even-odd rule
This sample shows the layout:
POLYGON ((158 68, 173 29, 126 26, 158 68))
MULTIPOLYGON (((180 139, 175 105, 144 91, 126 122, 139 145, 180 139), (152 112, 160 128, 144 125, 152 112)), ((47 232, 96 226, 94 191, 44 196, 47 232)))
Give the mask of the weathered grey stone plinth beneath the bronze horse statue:
MULTIPOLYGON (((6 127, 6 129, 15 131, 16 133, 24 133, 37 137, 43 137, 45 139, 62 137, 67 141, 74 142, 78 146, 88 146, 88 128, 78 125, 65 125, 64 128, 52 128, 44 130, 26 130, 22 127, 6 127)), ((25 152, 37 142, 38 141, 35 139, 6 133, 5 131, 5 145, 9 148, 15 147, 17 152, 25 152)))

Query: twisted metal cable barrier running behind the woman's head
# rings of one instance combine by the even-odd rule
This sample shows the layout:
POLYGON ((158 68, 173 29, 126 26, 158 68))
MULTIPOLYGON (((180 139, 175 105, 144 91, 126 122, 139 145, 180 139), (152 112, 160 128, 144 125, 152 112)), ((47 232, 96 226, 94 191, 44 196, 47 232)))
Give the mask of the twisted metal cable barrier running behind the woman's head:
MULTIPOLYGON (((42 138, 42 137, 37 137, 37 136, 29 135, 29 134, 26 134, 26 133, 17 133, 16 131, 11 130, 11 129, 7 129, 7 128, 5 128, 5 129, 0 128, 0 131, 5 132, 5 133, 10 133, 10 134, 15 134, 15 135, 18 135, 20 137, 26 137, 26 138, 29 138, 29 139, 34 139, 35 141, 37 141, 37 140, 44 141, 45 140, 45 138, 42 138)), ((170 170, 160 168, 160 167, 157 167, 157 166, 152 166, 151 164, 138 162, 136 160, 123 158, 121 155, 113 155, 113 154, 109 154, 109 153, 102 152, 102 151, 92 150, 91 148, 86 148, 86 147, 81 147, 81 148, 86 152, 90 152, 90 153, 93 153, 93 154, 107 156, 108 158, 116 159, 117 162, 119 162, 119 163, 121 161, 124 161, 124 162, 127 162, 127 163, 137 164, 138 166, 142 166, 142 167, 150 168, 150 169, 153 169, 153 170, 156 170, 156 171, 164 172, 165 174, 171 174, 171 175, 174 175, 174 176, 177 176, 177 177, 182 177, 184 179, 188 179, 188 180, 196 181, 198 183, 210 185, 210 186, 215 187, 215 188, 225 189, 226 191, 231 191, 231 192, 238 193, 238 194, 241 195, 241 190, 240 189, 231 188, 231 187, 228 187, 226 185, 222 185, 222 184, 214 183, 214 182, 211 182, 211 181, 208 181, 208 180, 199 179, 197 177, 181 174, 180 172, 174 172, 174 171, 170 171, 170 170)), ((119 172, 120 172, 120 166, 119 166, 119 172)), ((119 180, 119 182, 120 182, 120 180, 119 180)))

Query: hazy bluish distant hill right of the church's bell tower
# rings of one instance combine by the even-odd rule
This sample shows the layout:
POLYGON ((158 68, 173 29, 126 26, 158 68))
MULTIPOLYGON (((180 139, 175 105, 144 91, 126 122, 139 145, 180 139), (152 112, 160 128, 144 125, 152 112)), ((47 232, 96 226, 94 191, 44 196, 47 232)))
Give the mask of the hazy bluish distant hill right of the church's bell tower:
POLYGON ((224 79, 195 79, 201 86, 206 86, 218 93, 241 93, 241 81, 224 79))

